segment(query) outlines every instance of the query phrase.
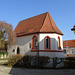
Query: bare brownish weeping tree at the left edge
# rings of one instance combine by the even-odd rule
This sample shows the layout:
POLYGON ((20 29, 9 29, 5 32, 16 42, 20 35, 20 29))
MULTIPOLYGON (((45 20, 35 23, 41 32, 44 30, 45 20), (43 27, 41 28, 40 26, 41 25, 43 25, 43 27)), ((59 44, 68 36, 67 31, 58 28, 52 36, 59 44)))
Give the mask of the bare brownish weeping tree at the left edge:
POLYGON ((16 35, 11 24, 0 21, 0 47, 5 45, 5 41, 9 46, 15 44, 16 35))

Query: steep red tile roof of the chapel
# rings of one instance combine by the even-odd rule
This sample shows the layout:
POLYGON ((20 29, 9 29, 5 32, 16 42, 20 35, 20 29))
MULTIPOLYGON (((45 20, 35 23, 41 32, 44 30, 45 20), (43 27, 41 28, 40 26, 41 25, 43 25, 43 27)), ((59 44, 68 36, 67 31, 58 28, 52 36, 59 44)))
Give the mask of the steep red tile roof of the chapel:
POLYGON ((38 32, 53 32, 63 35, 49 12, 20 21, 14 31, 17 36, 38 32))

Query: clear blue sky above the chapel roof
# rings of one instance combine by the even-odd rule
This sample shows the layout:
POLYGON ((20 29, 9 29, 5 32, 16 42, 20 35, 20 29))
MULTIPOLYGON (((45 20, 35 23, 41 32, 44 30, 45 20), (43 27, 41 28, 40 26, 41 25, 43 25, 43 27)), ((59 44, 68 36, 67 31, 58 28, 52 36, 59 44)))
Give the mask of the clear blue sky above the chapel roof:
POLYGON ((75 0, 0 0, 0 20, 17 26, 18 22, 49 12, 63 40, 75 39, 71 28, 75 24, 75 0))

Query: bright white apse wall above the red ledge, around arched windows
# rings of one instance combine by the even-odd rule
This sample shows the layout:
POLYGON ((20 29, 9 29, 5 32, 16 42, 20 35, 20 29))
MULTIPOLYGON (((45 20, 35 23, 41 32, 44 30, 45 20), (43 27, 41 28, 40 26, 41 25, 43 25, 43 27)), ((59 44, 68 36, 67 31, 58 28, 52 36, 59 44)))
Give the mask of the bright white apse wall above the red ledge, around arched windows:
POLYGON ((58 50, 58 36, 60 37, 61 41, 61 49, 63 50, 62 44, 62 35, 59 34, 39 34, 39 50, 44 50, 44 38, 46 36, 50 37, 51 43, 51 50, 58 50))

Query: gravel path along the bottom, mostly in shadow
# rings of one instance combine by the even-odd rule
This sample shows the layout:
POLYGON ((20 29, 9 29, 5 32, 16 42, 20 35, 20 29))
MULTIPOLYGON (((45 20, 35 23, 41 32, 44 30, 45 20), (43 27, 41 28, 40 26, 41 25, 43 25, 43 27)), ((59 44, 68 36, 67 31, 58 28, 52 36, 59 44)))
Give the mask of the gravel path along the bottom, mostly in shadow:
POLYGON ((0 65, 0 75, 75 75, 75 69, 23 69, 23 68, 8 68, 0 65))

